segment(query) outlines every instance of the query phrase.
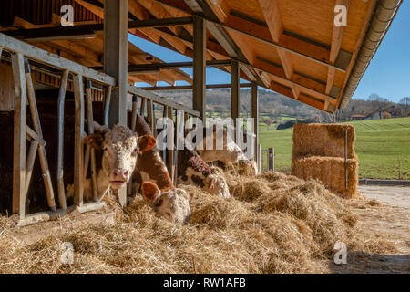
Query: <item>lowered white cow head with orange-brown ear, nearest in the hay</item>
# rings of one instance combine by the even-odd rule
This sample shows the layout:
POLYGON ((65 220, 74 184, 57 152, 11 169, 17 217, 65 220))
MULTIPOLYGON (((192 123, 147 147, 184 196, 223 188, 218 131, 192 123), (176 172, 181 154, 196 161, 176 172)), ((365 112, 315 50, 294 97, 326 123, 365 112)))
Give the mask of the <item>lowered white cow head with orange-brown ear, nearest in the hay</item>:
POLYGON ((141 193, 154 211, 169 221, 184 224, 190 220, 192 194, 187 193, 185 190, 175 188, 167 192, 161 192, 157 184, 144 182, 141 185, 141 193))

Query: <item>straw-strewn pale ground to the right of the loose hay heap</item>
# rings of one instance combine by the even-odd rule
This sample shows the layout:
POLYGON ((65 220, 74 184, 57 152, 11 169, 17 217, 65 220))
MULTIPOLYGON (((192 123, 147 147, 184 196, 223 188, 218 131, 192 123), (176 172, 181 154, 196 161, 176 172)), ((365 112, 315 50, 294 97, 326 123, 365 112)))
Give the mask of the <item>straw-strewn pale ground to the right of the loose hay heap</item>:
POLYGON ((410 187, 359 186, 352 201, 360 236, 370 252, 352 251, 335 273, 410 273, 410 187), (390 252, 373 252, 373 250, 390 252))

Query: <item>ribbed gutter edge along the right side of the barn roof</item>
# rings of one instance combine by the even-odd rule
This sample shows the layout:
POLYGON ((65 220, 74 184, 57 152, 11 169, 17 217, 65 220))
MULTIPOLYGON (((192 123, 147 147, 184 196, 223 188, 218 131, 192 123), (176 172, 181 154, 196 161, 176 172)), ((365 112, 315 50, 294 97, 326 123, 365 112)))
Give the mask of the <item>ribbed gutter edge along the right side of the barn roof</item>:
POLYGON ((380 0, 377 2, 374 8, 374 15, 367 28, 362 47, 344 90, 339 109, 343 109, 352 99, 354 91, 357 89, 364 72, 372 61, 389 27, 392 25, 402 2, 403 0, 380 0))

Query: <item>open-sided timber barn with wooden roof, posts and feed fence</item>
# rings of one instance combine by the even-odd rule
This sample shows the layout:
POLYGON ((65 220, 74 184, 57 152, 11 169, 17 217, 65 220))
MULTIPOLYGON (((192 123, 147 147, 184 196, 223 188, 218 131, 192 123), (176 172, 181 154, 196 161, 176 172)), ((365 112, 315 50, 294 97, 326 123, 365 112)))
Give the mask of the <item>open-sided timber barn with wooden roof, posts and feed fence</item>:
MULTIPOLYGON (((212 88, 231 89, 233 119, 240 117, 243 87, 251 88, 254 119, 258 119, 258 87, 319 110, 342 109, 401 2, 2 1, 0 111, 5 142, 0 149, 5 158, 0 161, 4 163, 0 173, 10 187, 2 185, 8 191, 0 193, 5 196, 0 210, 18 214, 19 225, 66 214, 70 207, 65 194, 67 164, 73 167, 73 205, 80 213, 101 208, 102 203, 83 202, 88 169, 89 175, 96 175, 94 151, 84 146, 93 120, 132 127, 138 111, 153 127, 155 107, 177 123, 190 117, 204 119, 206 90, 212 88), (128 34, 192 61, 166 63, 128 42, 128 34), (207 84, 207 67, 229 72, 231 83, 207 84), (181 68, 193 68, 193 76, 181 68), (241 83, 240 78, 247 83, 241 83), (169 85, 159 87, 159 81, 169 85), (176 86, 177 81, 187 85, 176 86), (141 89, 136 82, 151 87, 141 89), (192 89, 192 108, 161 97, 163 89, 192 89), (128 119, 131 96, 134 106, 128 119), (65 132, 67 127, 71 131, 65 132), (70 149, 68 140, 73 144, 70 149), (72 156, 65 158, 68 154, 72 156), (10 172, 6 172, 7 167, 10 172), (27 194, 32 189, 43 193, 46 208, 27 214, 27 194)), ((257 142, 258 123, 253 132, 257 142)), ((171 173, 175 172, 176 155, 175 151, 166 155, 171 173)), ((260 161, 258 155, 255 159, 260 161)), ((126 196, 126 188, 121 189, 122 205, 126 196)), ((38 194, 35 198, 40 200, 38 194)))

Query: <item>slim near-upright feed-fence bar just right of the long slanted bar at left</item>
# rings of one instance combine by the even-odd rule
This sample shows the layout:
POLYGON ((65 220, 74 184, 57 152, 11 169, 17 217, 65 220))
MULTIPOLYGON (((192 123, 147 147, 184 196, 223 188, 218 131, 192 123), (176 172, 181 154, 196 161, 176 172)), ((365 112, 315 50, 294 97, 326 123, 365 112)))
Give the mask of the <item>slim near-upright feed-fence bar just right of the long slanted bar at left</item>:
POLYGON ((64 187, 64 103, 66 101, 68 71, 64 71, 60 79, 60 90, 58 92, 57 102, 57 137, 58 137, 58 153, 57 153, 57 192, 60 208, 67 210, 66 193, 64 187))

